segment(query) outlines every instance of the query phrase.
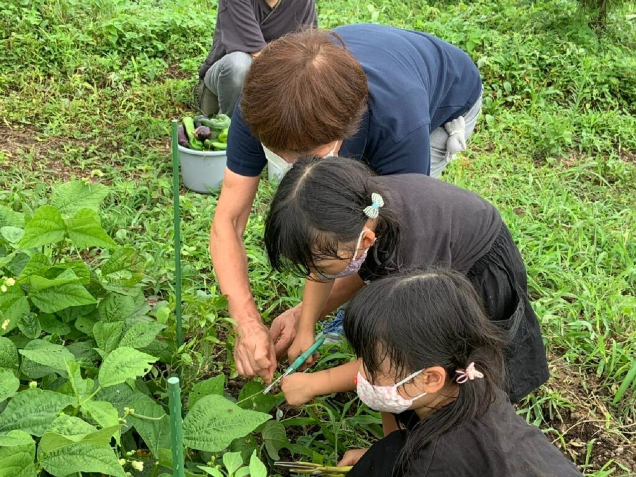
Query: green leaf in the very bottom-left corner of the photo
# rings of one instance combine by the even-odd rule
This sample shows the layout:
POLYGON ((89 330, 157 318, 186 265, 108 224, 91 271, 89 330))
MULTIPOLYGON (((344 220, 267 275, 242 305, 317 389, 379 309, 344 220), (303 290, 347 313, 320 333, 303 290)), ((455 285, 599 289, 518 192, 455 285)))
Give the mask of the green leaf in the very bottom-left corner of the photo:
POLYGON ((36 443, 23 431, 0 437, 0 477, 35 477, 36 443))

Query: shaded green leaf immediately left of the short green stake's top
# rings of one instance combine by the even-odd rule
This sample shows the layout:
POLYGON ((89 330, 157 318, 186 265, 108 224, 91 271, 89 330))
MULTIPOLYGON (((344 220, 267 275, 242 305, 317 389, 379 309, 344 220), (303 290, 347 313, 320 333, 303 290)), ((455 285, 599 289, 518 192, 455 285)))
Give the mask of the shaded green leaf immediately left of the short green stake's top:
POLYGON ((143 439, 148 449, 157 455, 160 448, 170 447, 170 418, 151 397, 142 394, 138 401, 131 401, 129 406, 135 410, 135 414, 160 418, 160 420, 150 420, 128 415, 139 436, 143 439))

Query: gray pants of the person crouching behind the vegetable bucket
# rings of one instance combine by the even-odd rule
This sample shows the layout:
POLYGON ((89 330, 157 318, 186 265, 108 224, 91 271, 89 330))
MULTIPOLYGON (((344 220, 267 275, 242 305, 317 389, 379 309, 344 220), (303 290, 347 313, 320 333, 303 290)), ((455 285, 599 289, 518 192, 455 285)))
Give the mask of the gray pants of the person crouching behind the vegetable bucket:
POLYGON ((199 87, 197 107, 201 112, 232 116, 250 66, 252 55, 244 52, 228 53, 214 63, 199 87))

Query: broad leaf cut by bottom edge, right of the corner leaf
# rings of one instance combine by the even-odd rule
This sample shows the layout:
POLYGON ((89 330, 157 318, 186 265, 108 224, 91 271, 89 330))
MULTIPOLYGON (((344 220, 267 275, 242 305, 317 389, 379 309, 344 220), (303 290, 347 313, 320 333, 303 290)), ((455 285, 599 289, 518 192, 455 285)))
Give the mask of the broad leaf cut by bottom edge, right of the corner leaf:
POLYGON ((126 476, 113 449, 109 446, 74 442, 51 452, 43 452, 38 457, 45 471, 55 477, 66 477, 78 472, 102 473, 115 477, 126 476))

